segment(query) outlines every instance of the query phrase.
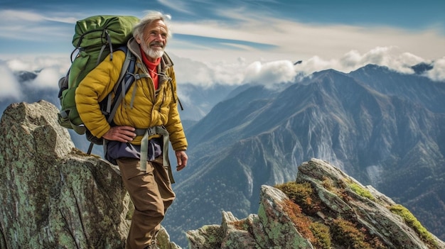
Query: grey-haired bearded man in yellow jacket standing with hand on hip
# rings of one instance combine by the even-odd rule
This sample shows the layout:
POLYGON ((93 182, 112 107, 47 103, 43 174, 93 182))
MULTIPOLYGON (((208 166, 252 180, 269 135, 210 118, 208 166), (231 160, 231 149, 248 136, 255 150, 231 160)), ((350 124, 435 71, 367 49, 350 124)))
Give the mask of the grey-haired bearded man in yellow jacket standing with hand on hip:
POLYGON ((127 43, 136 56, 136 81, 125 94, 112 125, 100 111, 99 102, 112 92, 125 58, 113 52, 80 82, 76 106, 92 135, 107 140, 105 157, 117 162, 125 187, 135 206, 127 248, 158 248, 156 234, 175 194, 171 189, 168 140, 178 166, 187 165, 187 140, 178 114, 173 62, 164 52, 169 17, 148 13, 133 28, 127 43), (142 157, 142 158, 141 158, 142 157))

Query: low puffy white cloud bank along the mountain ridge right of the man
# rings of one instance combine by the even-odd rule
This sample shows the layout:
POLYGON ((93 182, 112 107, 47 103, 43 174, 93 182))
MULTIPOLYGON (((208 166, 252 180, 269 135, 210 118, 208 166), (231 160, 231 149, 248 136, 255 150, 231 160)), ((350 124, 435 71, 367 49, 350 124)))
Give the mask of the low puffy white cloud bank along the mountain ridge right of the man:
MULTIPOLYGON (((397 47, 377 47, 365 53, 350 50, 337 59, 320 56, 310 57, 294 65, 291 60, 256 60, 251 63, 239 57, 235 62, 221 60, 218 63, 203 63, 189 58, 173 55, 176 80, 178 84, 191 83, 202 87, 213 84, 240 85, 245 83, 264 84, 273 87, 275 84, 293 82, 296 76, 308 76, 321 70, 338 70, 351 72, 368 64, 380 65, 404 74, 412 74, 412 66, 421 62, 431 63, 422 57, 404 52, 397 47)), ((434 70, 426 77, 443 81, 445 76, 445 57, 434 62, 434 70)))

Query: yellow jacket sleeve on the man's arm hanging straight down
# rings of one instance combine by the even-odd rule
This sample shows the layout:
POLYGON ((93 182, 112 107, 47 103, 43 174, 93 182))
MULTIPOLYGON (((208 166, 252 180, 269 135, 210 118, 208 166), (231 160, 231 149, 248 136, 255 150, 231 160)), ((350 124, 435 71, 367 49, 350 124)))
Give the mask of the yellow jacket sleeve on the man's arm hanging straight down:
POLYGON ((181 123, 178 112, 178 95, 176 94, 176 77, 173 67, 171 67, 169 76, 171 77, 171 86, 173 87, 173 98, 170 103, 170 112, 168 113, 168 122, 166 129, 170 135, 171 147, 173 150, 187 150, 186 134, 181 123))

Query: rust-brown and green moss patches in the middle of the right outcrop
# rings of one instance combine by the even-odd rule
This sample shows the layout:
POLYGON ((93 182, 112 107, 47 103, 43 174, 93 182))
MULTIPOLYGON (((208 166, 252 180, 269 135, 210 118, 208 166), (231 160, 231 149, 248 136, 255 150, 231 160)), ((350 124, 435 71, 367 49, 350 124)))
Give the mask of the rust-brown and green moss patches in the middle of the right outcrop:
MULTIPOLYGON (((332 190, 336 190, 332 184, 324 181, 332 190)), ((358 195, 373 199, 370 192, 358 184, 349 184, 358 195)), ((386 248, 382 241, 370 236, 368 231, 360 225, 337 217, 323 220, 318 211, 323 210, 323 203, 314 193, 309 182, 287 182, 275 186, 282 190, 289 200, 284 201, 283 209, 302 236, 307 238, 315 248, 328 249, 335 245, 348 245, 349 248, 383 249, 386 248)), ((326 208, 326 207, 325 207, 326 208)))

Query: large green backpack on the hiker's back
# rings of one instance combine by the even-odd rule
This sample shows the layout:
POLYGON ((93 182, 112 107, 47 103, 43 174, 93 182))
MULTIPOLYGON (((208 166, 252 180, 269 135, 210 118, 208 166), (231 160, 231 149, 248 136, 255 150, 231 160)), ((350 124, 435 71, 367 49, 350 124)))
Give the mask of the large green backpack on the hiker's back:
MULTIPOLYGON (((127 51, 126 48, 122 49, 122 46, 127 45, 127 41, 132 38, 133 26, 138 21, 139 18, 134 16, 91 16, 77 21, 73 36, 75 50, 71 53, 72 65, 68 74, 59 80, 58 97, 61 108, 58 123, 60 126, 73 129, 80 135, 87 133, 87 128, 76 109, 75 90, 82 79, 107 55, 111 53, 110 60, 112 60, 113 51, 118 49, 127 51), (73 60, 75 51, 78 53, 73 60)), ((131 53, 127 52, 127 59, 129 55, 131 53)), ((124 65, 122 68, 119 81, 126 74, 127 67, 128 65, 124 65)), ((111 101, 107 99, 110 98, 111 96, 105 99, 109 104, 111 101)))

